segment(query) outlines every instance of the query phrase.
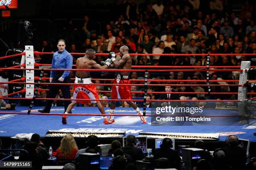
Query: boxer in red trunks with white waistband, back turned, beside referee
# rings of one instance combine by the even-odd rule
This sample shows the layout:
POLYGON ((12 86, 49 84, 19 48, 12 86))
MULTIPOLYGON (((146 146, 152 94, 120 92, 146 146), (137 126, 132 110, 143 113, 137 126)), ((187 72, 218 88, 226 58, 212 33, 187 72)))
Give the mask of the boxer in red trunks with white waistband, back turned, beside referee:
MULTIPOLYGON (((106 69, 108 66, 111 64, 112 60, 108 58, 105 62, 103 62, 103 65, 97 64, 93 59, 95 58, 95 50, 88 49, 86 50, 86 55, 84 57, 80 57, 77 59, 77 64, 76 67, 77 69, 91 69, 92 67, 96 69, 106 69)), ((74 94, 73 94, 73 99, 99 99, 99 96, 96 92, 96 85, 93 85, 91 82, 91 77, 90 77, 90 71, 77 71, 76 73, 76 80, 75 83, 77 85, 74 85, 74 94), (83 84, 92 84, 92 85, 83 85, 83 84)), ((77 103, 96 103, 100 112, 102 114, 105 114, 105 110, 101 103, 99 101, 95 100, 73 100, 71 104, 67 107, 67 110, 65 113, 69 113, 72 108, 77 104, 77 103)), ((108 117, 104 116, 104 121, 105 124, 109 124, 111 121, 108 119, 108 117)), ((67 116, 63 115, 62 116, 62 123, 67 124, 67 116)))

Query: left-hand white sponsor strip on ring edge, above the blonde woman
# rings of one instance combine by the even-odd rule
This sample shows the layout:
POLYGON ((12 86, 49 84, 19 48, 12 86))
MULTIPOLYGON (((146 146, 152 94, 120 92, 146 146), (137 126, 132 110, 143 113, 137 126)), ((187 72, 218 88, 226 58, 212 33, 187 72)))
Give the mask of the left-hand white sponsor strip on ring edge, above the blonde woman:
POLYGON ((90 135, 95 135, 98 138, 123 138, 125 130, 98 128, 48 130, 45 137, 64 137, 67 134, 72 134, 74 138, 87 138, 90 135))

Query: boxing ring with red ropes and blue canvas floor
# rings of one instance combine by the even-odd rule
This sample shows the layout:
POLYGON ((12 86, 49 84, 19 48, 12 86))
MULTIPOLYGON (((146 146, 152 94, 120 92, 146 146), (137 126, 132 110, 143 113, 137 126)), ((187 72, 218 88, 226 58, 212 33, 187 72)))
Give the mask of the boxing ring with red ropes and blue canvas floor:
MULTIPOLYGON (((0 57, 1 59, 4 58, 10 58, 10 57, 16 57, 20 55, 25 55, 26 53, 20 53, 16 55, 10 55, 5 57, 0 57)), ((51 52, 33 52, 34 55, 43 55, 43 54, 53 54, 51 52)), ((71 53, 72 55, 84 55, 84 53, 71 53)), ((108 55, 108 54, 96 54, 96 55, 108 55)), ((153 55, 153 54, 130 54, 130 55, 153 55)), ((161 56, 188 56, 187 54, 154 54, 154 55, 161 55, 161 56)), ((195 54, 199 55, 199 54, 195 54)), ((193 54, 193 56, 195 56, 193 54)), ((210 55, 227 55, 227 54, 200 54, 200 56, 205 55, 209 58, 210 55)), ((233 54, 228 54, 233 55, 233 54)), ((246 55, 253 55, 253 54, 246 54, 246 55)), ((47 65, 49 64, 38 64, 33 63, 33 67, 41 66, 41 65, 47 65)), ((34 71, 42 71, 40 68, 19 68, 19 67, 25 67, 25 64, 16 65, 13 67, 8 68, 0 68, 0 70, 34 70, 34 71)), ((61 69, 43 69, 44 71, 50 71, 50 70, 61 70, 61 69)), ((62 69, 64 70, 64 69, 62 69)), ((84 70, 84 71, 122 71, 120 69, 65 69, 65 70, 84 70)), ((125 70, 125 71, 136 71, 136 72, 206 72, 206 74, 209 74, 209 72, 232 72, 237 71, 243 73, 243 76, 245 75, 244 72, 247 72, 248 69, 241 69, 239 66, 225 66, 225 69, 223 69, 223 66, 132 66, 131 70, 125 70)), ((246 80, 247 75, 244 77, 244 80, 246 80)), ((48 80, 49 77, 36 77, 34 76, 34 80, 39 80, 38 82, 24 82, 26 80, 26 77, 20 77, 16 80, 11 80, 8 82, 0 82, 0 84, 9 84, 9 85, 35 85, 36 87, 33 89, 35 91, 43 91, 47 89, 40 89, 37 87, 38 84, 40 85, 74 85, 74 83, 65 84, 65 83, 42 83, 41 80, 48 80)), ((74 80, 74 79, 72 79, 74 80)), ((107 80, 107 81, 113 81, 113 79, 93 79, 92 80, 107 80)), ((207 77, 207 80, 153 80, 153 79, 145 79, 145 80, 131 80, 134 82, 140 82, 143 84, 122 84, 122 85, 129 85, 129 86, 141 86, 141 87, 150 87, 150 86, 172 86, 172 87, 180 87, 180 86, 206 86, 208 89, 210 87, 239 87, 243 88, 241 84, 241 80, 209 80, 209 77, 207 77), (146 81, 146 82, 145 82, 146 81), (147 82, 164 82, 164 84, 150 84, 147 82), (171 84, 173 82, 205 82, 207 84, 171 84), (210 84, 210 82, 233 82, 233 84, 210 84)), ((97 84, 94 85, 106 85, 106 86, 113 86, 118 84, 113 83, 105 83, 105 84, 97 84)), ((120 84, 119 84, 120 85, 120 84)), ((18 93, 25 93, 27 88, 23 88, 20 90, 16 90, 15 92, 0 96, 0 99, 3 100, 29 100, 31 101, 32 98, 25 98, 20 97, 16 98, 13 97, 13 95, 16 95, 18 93)), ((110 91, 97 91, 99 93, 104 92, 110 92, 110 91)), ((132 91, 131 93, 142 93, 144 95, 143 99, 132 99, 131 101, 134 102, 180 102, 181 100, 146 100, 145 95, 146 94, 179 94, 180 92, 147 92, 146 90, 144 92, 141 91, 132 91)), ((238 92, 182 92, 182 94, 205 94, 205 95, 239 95, 238 92)), ((246 95, 256 95, 255 92, 247 93, 246 95)), ((244 97, 240 100, 196 100, 196 102, 241 102, 245 100, 247 97, 244 97)), ((238 97, 239 99, 239 97, 238 97)), ((253 99, 253 98, 252 98, 253 99)), ((74 99, 58 99, 58 98, 35 98, 35 101, 37 100, 74 100, 74 99)), ((90 100, 90 99, 76 99, 76 100, 90 100)), ((101 100, 101 99, 99 99, 101 100)), ((127 100, 101 100, 101 101, 127 101, 127 100)), ((192 102, 191 100, 182 100, 182 102, 192 102)), ((208 103, 206 103, 208 104, 208 103)), ((146 116, 147 123, 142 124, 139 115, 136 114, 136 111, 131 107, 116 107, 115 108, 115 122, 110 125, 105 125, 103 121, 103 116, 100 114, 100 111, 97 107, 74 107, 72 110, 72 114, 65 114, 68 115, 68 123, 67 125, 63 125, 61 123, 61 116, 64 115, 64 107, 51 107, 50 113, 40 113, 37 110, 42 109, 42 107, 33 106, 32 110, 28 112, 29 107, 28 106, 17 106, 16 110, 1 110, 0 111, 0 136, 2 137, 12 137, 15 136, 18 133, 38 133, 41 136, 45 136, 48 130, 69 130, 69 131, 78 131, 79 130, 92 130, 95 131, 101 131, 101 132, 111 132, 111 131, 125 131, 125 134, 134 134, 134 135, 140 135, 140 133, 205 133, 205 134, 218 134, 220 135, 219 140, 225 140, 227 135, 237 135, 239 138, 248 139, 252 142, 256 142, 256 138, 253 135, 256 128, 256 119, 252 116, 252 118, 243 125, 238 125, 237 123, 230 123, 228 125, 200 125, 195 122, 191 122, 190 124, 183 124, 183 125, 175 125, 175 126, 166 126, 166 125, 154 125, 154 121, 152 121, 155 117, 158 115, 152 114, 151 108, 145 108, 141 107, 140 109, 143 110, 144 116, 146 116)), ((110 114, 110 108, 104 107, 106 115, 108 116, 110 114)), ((221 121, 223 117, 236 117, 239 118, 243 115, 239 115, 239 109, 238 106, 235 111, 230 111, 227 109, 219 109, 216 111, 212 108, 207 108, 204 112, 205 116, 213 117, 217 121, 221 121), (230 112, 235 112, 236 114, 230 114, 230 112), (215 114, 212 114, 215 113, 215 114)), ((255 110, 253 110, 255 112, 255 110)), ((255 114, 255 113, 253 113, 255 114)), ((163 117, 172 115, 161 115, 163 117)), ((198 117, 201 115, 189 115, 189 117, 198 117)), ((182 115, 181 115, 182 117, 182 115)))

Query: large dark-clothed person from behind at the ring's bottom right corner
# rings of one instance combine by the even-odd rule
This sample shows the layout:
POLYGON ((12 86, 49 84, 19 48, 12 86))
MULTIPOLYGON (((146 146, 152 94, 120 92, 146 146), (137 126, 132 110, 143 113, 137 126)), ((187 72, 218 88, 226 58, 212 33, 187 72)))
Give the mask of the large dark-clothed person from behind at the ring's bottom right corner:
POLYGON ((226 147, 222 148, 225 158, 233 170, 243 170, 246 165, 246 150, 238 146, 238 137, 236 135, 228 136, 226 147))

